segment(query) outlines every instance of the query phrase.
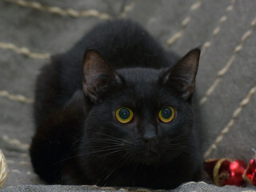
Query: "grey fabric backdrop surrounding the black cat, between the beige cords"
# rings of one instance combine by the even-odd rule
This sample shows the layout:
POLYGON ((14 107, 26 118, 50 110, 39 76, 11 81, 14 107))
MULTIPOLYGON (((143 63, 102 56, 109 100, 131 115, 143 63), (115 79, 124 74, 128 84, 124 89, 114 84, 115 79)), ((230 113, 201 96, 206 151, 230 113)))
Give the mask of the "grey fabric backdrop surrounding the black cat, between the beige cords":
MULTIPOLYGON (((203 54, 197 78, 197 94, 200 101, 206 91, 218 78, 218 71, 226 66, 233 56, 234 62, 220 78, 220 82, 205 103, 199 106, 202 114, 204 144, 206 151, 226 125, 234 120, 230 130, 216 143, 207 158, 241 158, 249 162, 256 148, 256 94, 246 106, 239 106, 249 91, 256 86, 256 35, 255 26, 250 26, 256 17, 255 1, 246 0, 30 0, 26 6, 18 5, 18 0, 0 1, 0 91, 34 97, 34 81, 39 69, 49 62, 48 58, 30 58, 1 42, 26 47, 31 52, 56 54, 68 50, 82 34, 98 22, 98 17, 70 17, 50 13, 49 7, 58 6, 66 12, 73 10, 98 10, 111 18, 130 18, 146 27, 167 50, 177 54, 186 52, 205 42, 211 45, 203 54), (39 10, 31 7, 31 2, 40 2, 39 10), (193 6, 198 5, 198 7, 193 6), (230 5, 233 9, 230 9, 230 5), (48 8, 45 10, 46 6, 48 8), (193 8, 194 7, 194 8, 193 8), (44 9, 44 10, 42 10, 44 9), (221 18, 226 18, 221 22, 221 18), (184 19, 189 22, 182 26, 184 19), (219 29, 217 34, 214 30, 219 29), (242 36, 252 30, 242 43, 242 49, 234 54, 242 36), (175 34, 180 38, 171 45, 166 42, 175 34), (240 109, 233 118, 234 111, 240 109)), ((0 92, 0 95, 2 92, 0 92)), ((87 186, 37 186, 43 184, 34 174, 28 147, 33 135, 32 104, 0 97, 0 150, 6 155, 9 177, 4 191, 82 191, 87 186), (34 185, 34 186, 17 186, 34 185)), ((199 112, 198 112, 199 113, 199 112)), ((190 183, 175 191, 242 191, 246 189, 215 187, 203 183, 190 183), (182 188, 183 187, 183 188, 182 188), (184 188, 185 187, 185 188, 184 188)), ((90 189, 101 190, 101 189, 90 189)), ((102 190, 101 190, 102 191, 102 190)))

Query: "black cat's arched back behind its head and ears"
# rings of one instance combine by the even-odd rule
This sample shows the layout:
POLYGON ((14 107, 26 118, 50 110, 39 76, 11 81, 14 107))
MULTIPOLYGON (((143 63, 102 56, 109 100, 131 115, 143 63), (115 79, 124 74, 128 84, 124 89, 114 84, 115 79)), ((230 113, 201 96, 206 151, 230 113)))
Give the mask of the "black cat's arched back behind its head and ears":
POLYGON ((173 64, 177 57, 167 53, 142 26, 126 19, 102 22, 86 33, 65 54, 52 58, 36 84, 34 117, 62 107, 78 89, 82 90, 82 63, 86 50, 96 50, 114 70, 154 68, 173 64))

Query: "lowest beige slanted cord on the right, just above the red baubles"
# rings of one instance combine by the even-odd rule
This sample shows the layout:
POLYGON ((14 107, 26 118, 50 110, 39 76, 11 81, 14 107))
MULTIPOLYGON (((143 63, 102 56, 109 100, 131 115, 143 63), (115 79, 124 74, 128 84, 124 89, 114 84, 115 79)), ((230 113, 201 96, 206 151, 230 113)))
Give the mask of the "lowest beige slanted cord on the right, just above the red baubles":
POLYGON ((227 123, 227 125, 222 129, 221 134, 215 139, 214 143, 209 147, 209 149, 206 150, 204 158, 208 158, 209 155, 213 152, 213 150, 217 148, 218 143, 221 142, 222 139, 224 138, 224 135, 230 131, 230 128, 234 125, 234 121, 238 117, 238 114, 240 114, 242 112, 242 109, 250 102, 250 98, 255 94, 255 92, 256 86, 252 87, 248 94, 246 95, 246 98, 243 98, 242 102, 239 103, 238 108, 234 110, 230 122, 227 123))

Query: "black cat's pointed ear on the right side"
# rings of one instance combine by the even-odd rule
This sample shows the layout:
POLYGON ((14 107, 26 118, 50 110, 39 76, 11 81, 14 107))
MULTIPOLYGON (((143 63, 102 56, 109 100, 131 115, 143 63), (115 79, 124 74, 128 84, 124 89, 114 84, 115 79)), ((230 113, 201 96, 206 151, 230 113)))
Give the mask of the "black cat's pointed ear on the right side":
POLYGON ((165 75, 164 83, 174 86, 182 98, 188 99, 194 92, 195 77, 198 72, 200 49, 190 50, 165 75))

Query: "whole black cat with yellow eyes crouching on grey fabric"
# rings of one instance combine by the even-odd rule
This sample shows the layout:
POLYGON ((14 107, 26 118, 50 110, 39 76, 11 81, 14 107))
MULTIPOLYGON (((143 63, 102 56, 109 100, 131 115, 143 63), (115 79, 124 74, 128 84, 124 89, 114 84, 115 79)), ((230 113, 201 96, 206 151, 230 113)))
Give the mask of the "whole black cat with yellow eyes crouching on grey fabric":
POLYGON ((38 76, 30 147, 46 182, 170 189, 201 178, 191 98, 200 50, 167 53, 138 24, 95 26, 38 76))

